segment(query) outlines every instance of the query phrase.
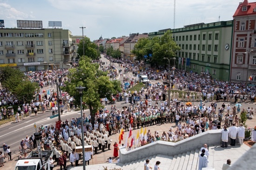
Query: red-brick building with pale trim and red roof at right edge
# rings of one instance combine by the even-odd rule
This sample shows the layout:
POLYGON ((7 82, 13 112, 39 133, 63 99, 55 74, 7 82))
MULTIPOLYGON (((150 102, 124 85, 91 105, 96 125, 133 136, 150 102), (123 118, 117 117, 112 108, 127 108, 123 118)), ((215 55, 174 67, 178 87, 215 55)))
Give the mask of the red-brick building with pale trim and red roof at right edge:
POLYGON ((231 81, 256 82, 256 2, 239 3, 234 18, 231 81), (250 80, 248 81, 250 77, 250 80))

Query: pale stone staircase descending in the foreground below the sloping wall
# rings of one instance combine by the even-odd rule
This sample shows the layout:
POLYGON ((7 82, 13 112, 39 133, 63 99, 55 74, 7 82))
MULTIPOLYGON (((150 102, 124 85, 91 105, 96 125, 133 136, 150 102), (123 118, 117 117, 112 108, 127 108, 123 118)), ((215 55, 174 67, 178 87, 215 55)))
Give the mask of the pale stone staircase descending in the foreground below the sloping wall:
MULTIPOLYGON (((157 154, 125 164, 113 163, 88 165, 86 166, 86 170, 103 170, 103 166, 108 167, 108 170, 114 168, 121 168, 121 170, 144 170, 144 163, 146 162, 146 159, 150 160, 149 166, 153 169, 156 161, 160 161, 161 164, 159 167, 161 170, 196 170, 198 169, 198 157, 199 149, 196 149, 195 151, 187 151, 186 153, 181 153, 173 157, 157 154)), ((73 167, 68 170, 82 170, 82 167, 73 167)))

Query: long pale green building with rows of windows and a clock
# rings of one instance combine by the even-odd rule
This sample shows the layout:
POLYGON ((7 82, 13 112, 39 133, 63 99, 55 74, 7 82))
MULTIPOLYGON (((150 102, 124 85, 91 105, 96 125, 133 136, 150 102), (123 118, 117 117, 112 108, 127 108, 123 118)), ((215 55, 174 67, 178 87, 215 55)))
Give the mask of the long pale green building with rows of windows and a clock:
MULTIPOLYGON (((199 73, 207 72, 212 78, 229 80, 233 21, 199 23, 172 30, 173 38, 181 47, 177 51, 177 69, 199 73), (186 66, 186 58, 189 65, 186 66), (183 59, 183 65, 182 65, 183 59)), ((150 38, 162 37, 166 30, 148 33, 150 38)), ((154 57, 154 56, 153 56, 154 57)))

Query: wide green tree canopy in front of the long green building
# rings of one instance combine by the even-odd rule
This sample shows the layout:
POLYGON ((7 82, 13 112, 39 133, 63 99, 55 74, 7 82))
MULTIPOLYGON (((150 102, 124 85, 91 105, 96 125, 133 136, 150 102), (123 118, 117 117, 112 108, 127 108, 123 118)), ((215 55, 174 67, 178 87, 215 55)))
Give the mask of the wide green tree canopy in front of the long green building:
POLYGON ((141 38, 135 44, 135 49, 131 52, 135 54, 136 60, 143 60, 143 56, 152 54, 151 65, 156 67, 167 66, 168 61, 163 58, 176 57, 176 52, 181 48, 175 43, 172 38, 171 31, 168 30, 161 38, 154 37, 152 39, 141 38))

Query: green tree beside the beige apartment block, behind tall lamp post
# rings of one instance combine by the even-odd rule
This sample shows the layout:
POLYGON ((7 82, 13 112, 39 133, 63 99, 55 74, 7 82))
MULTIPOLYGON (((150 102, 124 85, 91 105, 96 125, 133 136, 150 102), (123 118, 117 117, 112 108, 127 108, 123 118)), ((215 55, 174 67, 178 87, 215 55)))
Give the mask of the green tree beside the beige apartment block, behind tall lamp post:
POLYGON ((81 39, 77 52, 80 56, 83 55, 83 42, 84 42, 84 54, 93 60, 98 59, 100 57, 100 51, 97 50, 98 46, 97 44, 90 41, 90 38, 85 37, 84 39, 81 39))

